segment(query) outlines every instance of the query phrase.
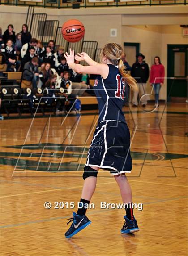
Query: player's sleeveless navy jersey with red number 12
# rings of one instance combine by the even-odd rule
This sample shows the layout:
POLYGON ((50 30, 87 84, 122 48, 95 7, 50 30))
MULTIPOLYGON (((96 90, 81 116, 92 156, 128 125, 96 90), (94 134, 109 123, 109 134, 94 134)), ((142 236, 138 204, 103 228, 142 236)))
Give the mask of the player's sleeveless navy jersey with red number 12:
POLYGON ((108 64, 109 74, 106 79, 97 76, 94 82, 94 92, 98 100, 99 119, 101 121, 120 121, 125 123, 122 111, 125 83, 118 66, 108 64))

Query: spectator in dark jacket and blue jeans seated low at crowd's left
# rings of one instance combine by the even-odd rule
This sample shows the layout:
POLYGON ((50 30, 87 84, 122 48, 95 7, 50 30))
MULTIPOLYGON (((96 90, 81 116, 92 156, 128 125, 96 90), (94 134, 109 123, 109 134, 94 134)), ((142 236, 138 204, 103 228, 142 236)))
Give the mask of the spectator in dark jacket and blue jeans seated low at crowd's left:
POLYGON ((38 58, 34 57, 24 65, 22 79, 32 81, 33 88, 37 88, 38 75, 38 58))

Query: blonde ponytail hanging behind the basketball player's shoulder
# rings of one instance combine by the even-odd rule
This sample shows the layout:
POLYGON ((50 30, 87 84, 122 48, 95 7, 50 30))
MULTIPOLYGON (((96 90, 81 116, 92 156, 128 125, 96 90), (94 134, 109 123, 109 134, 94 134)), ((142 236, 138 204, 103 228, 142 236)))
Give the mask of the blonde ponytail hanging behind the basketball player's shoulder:
POLYGON ((133 91, 138 91, 137 81, 125 71, 124 63, 122 59, 118 60, 118 69, 125 81, 133 91))

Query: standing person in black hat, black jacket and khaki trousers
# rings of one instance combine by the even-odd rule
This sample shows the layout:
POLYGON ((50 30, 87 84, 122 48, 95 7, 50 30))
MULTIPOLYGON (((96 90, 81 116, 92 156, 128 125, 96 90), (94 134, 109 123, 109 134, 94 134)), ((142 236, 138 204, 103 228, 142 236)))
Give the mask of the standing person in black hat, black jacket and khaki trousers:
MULTIPOLYGON (((143 61, 145 59, 145 56, 143 54, 139 53, 136 57, 137 57, 137 62, 135 62, 132 65, 131 76, 133 78, 135 78, 135 80, 137 81, 139 91, 134 91, 133 99, 132 99, 133 107, 137 107, 137 105, 138 105, 139 92, 141 93, 141 95, 146 93, 146 83, 150 76, 149 66, 147 63, 145 63, 145 61, 143 61)), ((142 107, 146 106, 146 104, 147 104, 146 97, 142 98, 141 104, 142 104, 142 107)))

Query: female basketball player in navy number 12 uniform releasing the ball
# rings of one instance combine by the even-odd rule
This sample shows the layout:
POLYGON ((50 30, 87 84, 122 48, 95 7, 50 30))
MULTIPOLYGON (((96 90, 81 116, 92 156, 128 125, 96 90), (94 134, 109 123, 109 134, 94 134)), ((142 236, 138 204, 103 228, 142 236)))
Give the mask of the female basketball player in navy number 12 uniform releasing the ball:
MULTIPOLYGON (((78 61, 84 60, 90 66, 74 63, 74 51, 64 54, 68 66, 75 72, 98 74, 94 82, 94 91, 98 99, 99 119, 84 167, 84 186, 80 206, 77 213, 73 212, 71 227, 65 233, 67 238, 90 225, 91 221, 85 216, 87 206, 93 196, 98 170, 104 169, 114 175, 120 188, 121 197, 126 207, 125 222, 121 233, 139 231, 137 221, 133 216, 132 192, 126 172, 131 172, 132 159, 130 155, 130 133, 122 112, 124 90, 126 83, 132 90, 137 90, 135 80, 124 71, 121 60, 123 49, 120 45, 110 43, 103 47, 101 64, 93 61, 86 53, 75 56, 78 61)), ((69 223, 68 222, 68 223, 69 223)))

